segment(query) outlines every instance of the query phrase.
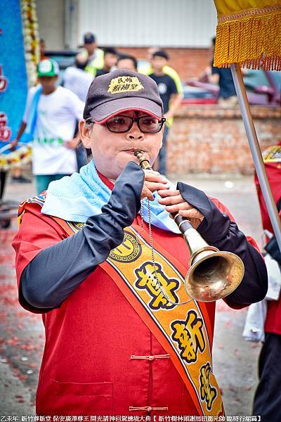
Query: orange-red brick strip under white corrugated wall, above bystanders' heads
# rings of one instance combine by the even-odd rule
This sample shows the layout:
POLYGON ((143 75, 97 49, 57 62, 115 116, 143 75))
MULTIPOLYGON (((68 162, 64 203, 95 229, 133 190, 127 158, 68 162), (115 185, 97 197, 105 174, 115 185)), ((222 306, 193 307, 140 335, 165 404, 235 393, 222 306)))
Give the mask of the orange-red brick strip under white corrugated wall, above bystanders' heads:
MULTIPOLYGON (((146 48, 135 47, 117 47, 117 50, 143 60, 146 60, 148 51, 146 48)), ((178 72, 183 81, 200 75, 211 61, 208 49, 165 49, 165 51, 169 54, 169 65, 178 72)))

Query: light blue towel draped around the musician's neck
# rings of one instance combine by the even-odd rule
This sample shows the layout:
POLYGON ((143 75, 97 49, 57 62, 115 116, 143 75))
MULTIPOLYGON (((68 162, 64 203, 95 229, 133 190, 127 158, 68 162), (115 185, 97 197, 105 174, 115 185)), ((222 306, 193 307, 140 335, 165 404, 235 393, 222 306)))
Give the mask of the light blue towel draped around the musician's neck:
MULTIPOLYGON (((49 184, 41 212, 70 222, 84 223, 92 215, 100 214, 110 195, 110 188, 100 179, 91 160, 89 164, 81 167, 79 173, 65 176, 49 184)), ((169 217, 164 206, 158 203, 159 198, 160 196, 155 193, 155 200, 150 201, 151 224, 159 229, 179 234, 174 220, 169 217)), ((148 200, 143 204, 143 219, 148 222, 148 200)))

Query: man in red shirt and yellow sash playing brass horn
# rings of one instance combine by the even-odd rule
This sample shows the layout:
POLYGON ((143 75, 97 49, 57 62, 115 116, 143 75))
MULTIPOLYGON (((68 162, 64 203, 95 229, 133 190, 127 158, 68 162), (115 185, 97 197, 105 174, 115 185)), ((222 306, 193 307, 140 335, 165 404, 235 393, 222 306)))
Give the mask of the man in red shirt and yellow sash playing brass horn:
POLYGON ((211 369, 215 305, 177 306, 188 250, 169 212, 243 260, 231 307, 264 297, 266 269, 223 204, 141 169, 135 151, 155 162, 164 121, 150 77, 97 77, 79 122, 93 160, 20 206, 19 300, 46 330, 37 415, 223 415, 211 369))

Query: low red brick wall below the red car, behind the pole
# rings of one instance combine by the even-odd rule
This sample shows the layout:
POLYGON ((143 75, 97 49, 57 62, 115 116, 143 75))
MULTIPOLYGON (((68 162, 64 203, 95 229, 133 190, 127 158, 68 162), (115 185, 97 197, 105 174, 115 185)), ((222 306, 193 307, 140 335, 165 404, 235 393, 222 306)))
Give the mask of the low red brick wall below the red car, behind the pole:
MULTIPOLYGON (((261 150, 281 141, 280 108, 252 106, 261 150)), ((174 174, 253 174, 239 108, 181 106, 168 136, 167 171, 174 174)))

